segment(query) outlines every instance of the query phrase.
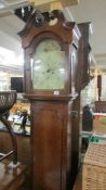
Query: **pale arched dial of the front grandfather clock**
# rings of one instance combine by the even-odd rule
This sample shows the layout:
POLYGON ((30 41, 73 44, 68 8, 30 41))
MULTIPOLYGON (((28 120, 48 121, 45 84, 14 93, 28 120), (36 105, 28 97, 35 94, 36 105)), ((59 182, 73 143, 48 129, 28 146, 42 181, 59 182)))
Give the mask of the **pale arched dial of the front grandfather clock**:
POLYGON ((56 40, 41 41, 31 59, 32 89, 64 89, 65 52, 56 40))

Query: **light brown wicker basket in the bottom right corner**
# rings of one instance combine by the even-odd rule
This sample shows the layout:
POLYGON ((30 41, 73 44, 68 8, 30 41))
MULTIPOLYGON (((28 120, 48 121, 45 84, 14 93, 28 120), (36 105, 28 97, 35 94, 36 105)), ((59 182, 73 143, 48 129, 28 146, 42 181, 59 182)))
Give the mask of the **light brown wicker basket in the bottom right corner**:
POLYGON ((106 142, 89 144, 83 160, 82 190, 106 190, 106 142))

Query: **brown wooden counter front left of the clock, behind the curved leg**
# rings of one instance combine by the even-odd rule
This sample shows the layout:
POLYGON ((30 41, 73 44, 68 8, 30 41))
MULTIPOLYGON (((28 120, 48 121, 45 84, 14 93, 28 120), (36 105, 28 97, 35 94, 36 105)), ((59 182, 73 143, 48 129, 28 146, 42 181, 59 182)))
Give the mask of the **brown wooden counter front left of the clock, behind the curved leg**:
MULTIPOLYGON (((31 163, 30 136, 15 134, 15 137, 17 141, 17 160, 18 162, 26 164, 28 166, 31 163)), ((8 134, 8 131, 0 130, 0 152, 6 153, 11 151, 11 149, 12 149, 12 142, 10 139, 10 135, 8 134)), ((11 155, 10 155, 10 160, 11 160, 11 155)))

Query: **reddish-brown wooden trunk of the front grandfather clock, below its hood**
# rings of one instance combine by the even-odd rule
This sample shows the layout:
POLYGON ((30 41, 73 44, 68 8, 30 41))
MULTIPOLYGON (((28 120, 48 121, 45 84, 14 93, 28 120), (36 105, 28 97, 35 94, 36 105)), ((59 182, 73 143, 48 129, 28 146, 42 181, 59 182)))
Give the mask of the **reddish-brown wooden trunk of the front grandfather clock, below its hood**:
POLYGON ((70 102, 31 101, 32 188, 65 190, 70 178, 70 102))

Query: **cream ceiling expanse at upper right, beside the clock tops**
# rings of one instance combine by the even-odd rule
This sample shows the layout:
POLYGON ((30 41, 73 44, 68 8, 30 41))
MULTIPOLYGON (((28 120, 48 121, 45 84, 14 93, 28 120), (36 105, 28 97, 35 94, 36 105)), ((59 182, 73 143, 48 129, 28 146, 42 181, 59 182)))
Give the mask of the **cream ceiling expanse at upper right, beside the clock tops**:
POLYGON ((106 0, 81 0, 78 5, 70 7, 69 11, 77 23, 92 22, 92 52, 96 63, 106 67, 106 0))

